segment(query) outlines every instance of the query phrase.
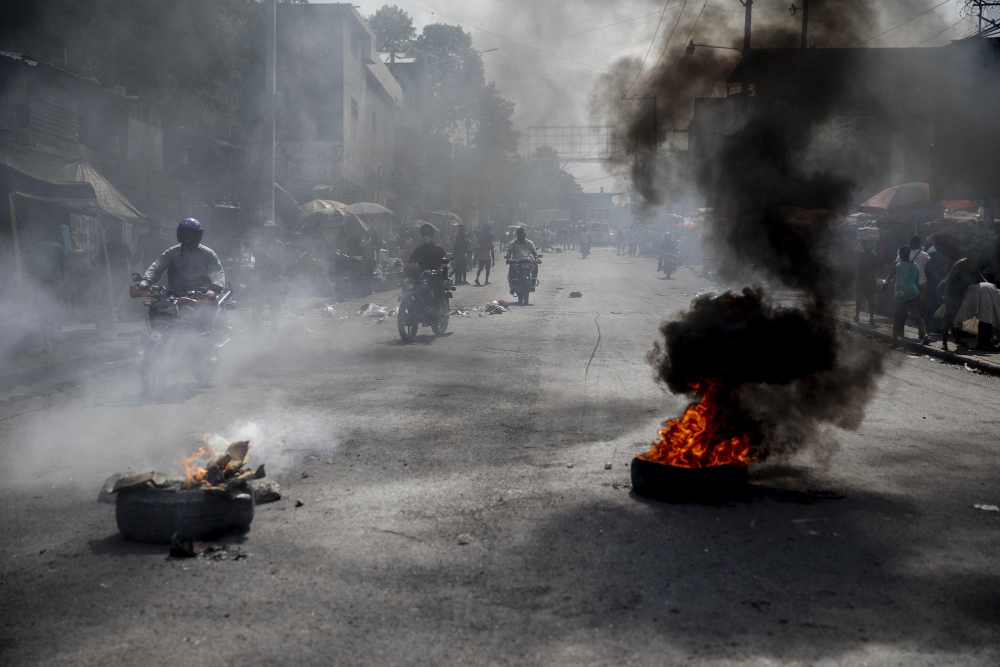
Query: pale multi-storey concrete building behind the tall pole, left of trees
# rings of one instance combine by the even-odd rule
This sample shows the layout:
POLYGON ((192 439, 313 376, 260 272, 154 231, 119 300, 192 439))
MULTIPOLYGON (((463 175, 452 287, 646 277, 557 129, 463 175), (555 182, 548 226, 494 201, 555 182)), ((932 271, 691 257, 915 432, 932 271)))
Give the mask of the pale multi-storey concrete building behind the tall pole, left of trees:
MULTIPOLYGON (((403 91, 351 4, 283 4, 277 36, 275 168, 293 187, 352 203, 390 203, 403 91)), ((390 206, 391 207, 391 206, 390 206)))

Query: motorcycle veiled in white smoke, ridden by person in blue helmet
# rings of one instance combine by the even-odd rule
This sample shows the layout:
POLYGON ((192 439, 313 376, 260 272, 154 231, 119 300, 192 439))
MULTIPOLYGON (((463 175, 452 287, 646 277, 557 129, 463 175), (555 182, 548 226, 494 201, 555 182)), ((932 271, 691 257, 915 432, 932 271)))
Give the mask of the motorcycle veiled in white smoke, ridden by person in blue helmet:
MULTIPOLYGON (((133 282, 140 280, 138 273, 132 274, 133 282)), ((142 393, 148 398, 162 393, 178 359, 190 365, 197 382, 211 382, 219 350, 233 338, 232 327, 226 324, 226 310, 236 307, 232 289, 188 289, 178 294, 155 284, 133 284, 129 295, 142 298, 149 308, 139 366, 142 393)))

